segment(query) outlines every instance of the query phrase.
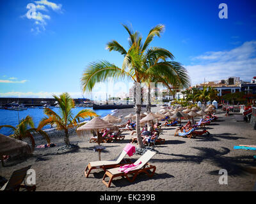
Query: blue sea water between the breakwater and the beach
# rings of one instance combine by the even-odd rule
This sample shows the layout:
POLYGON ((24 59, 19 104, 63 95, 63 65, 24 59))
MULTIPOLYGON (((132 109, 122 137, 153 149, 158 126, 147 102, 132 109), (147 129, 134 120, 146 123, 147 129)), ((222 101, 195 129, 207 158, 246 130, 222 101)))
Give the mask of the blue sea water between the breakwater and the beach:
MULTIPOLYGON (((57 114, 60 113, 60 108, 52 108, 52 110, 54 112, 56 112, 57 114)), ((83 108, 83 107, 76 107, 72 109, 72 113, 74 114, 74 116, 83 109, 90 109, 92 110, 92 108, 83 108)), ((113 110, 94 110, 95 113, 97 113, 97 115, 100 115, 100 117, 104 117, 108 114, 113 113, 113 110)), ((33 122, 35 124, 35 128, 38 126, 40 120, 43 117, 47 117, 47 115, 44 114, 44 109, 42 108, 28 108, 27 110, 4 110, 4 109, 0 109, 0 126, 3 125, 11 125, 11 126, 17 126, 17 124, 19 124, 19 119, 21 120, 22 118, 24 119, 27 115, 29 115, 30 117, 33 118, 33 122)), ((89 120, 88 119, 84 119, 84 120, 89 120)), ((51 126, 45 126, 43 129, 49 129, 51 128, 51 126)), ((0 129, 0 133, 3 135, 11 135, 12 129, 10 128, 2 128, 0 129)))

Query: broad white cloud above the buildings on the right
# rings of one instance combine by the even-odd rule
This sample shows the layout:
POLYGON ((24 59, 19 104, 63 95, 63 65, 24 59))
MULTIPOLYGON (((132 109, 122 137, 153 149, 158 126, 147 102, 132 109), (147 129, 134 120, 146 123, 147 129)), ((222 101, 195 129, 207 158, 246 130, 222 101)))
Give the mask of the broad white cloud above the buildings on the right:
POLYGON ((240 77, 250 81, 256 75, 256 41, 246 41, 243 45, 228 51, 205 52, 192 57, 193 64, 185 66, 193 85, 205 81, 240 77))

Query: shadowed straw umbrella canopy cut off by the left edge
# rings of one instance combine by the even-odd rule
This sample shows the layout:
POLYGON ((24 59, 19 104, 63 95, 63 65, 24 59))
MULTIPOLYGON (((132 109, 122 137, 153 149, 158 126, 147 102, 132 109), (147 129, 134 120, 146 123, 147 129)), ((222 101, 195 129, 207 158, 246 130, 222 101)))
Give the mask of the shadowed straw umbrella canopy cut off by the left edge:
POLYGON ((28 143, 0 134, 0 155, 17 156, 32 152, 28 143))

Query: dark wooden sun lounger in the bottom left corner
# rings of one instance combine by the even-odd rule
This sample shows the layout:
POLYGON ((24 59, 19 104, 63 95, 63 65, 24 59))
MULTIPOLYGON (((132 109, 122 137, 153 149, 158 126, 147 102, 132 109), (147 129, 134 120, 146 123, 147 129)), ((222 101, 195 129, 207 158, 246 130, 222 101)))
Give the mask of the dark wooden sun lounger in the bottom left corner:
POLYGON ((20 188, 24 188, 27 191, 35 191, 36 186, 27 186, 25 183, 25 178, 27 175, 27 171, 31 168, 31 166, 27 166, 20 170, 13 171, 12 176, 8 180, 8 182, 1 188, 1 191, 19 191, 20 188), (24 184, 22 184, 24 182, 24 184))

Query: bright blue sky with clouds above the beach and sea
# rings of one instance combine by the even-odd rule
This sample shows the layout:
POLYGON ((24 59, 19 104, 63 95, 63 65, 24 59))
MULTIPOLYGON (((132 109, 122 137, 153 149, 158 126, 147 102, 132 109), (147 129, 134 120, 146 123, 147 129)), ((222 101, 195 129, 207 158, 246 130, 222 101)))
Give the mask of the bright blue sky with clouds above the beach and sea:
MULTIPOLYGON (((81 98, 80 78, 90 62, 122 65, 122 55, 106 50, 111 40, 128 47, 121 24, 132 24, 144 40, 153 26, 165 25, 151 46, 170 50, 188 69, 192 85, 204 78, 256 76, 255 1, 2 0, 0 97, 69 92, 81 98), (36 18, 26 16, 29 3, 36 6, 36 18), (227 19, 218 16, 220 3, 228 6, 227 19)), ((128 90, 129 81, 125 88, 122 83, 111 95, 128 90)), ((95 96, 106 85, 98 85, 95 96)))

